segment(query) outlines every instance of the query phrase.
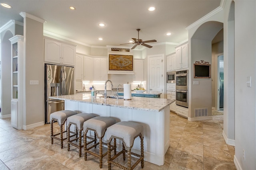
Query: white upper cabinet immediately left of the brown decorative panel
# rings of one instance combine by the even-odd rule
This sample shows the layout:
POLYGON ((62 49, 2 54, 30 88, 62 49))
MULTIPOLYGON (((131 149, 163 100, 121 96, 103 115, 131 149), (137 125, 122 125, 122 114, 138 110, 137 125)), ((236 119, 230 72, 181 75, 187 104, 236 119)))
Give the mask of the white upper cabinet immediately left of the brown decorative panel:
POLYGON ((94 81, 107 80, 107 61, 107 58, 94 58, 94 81))

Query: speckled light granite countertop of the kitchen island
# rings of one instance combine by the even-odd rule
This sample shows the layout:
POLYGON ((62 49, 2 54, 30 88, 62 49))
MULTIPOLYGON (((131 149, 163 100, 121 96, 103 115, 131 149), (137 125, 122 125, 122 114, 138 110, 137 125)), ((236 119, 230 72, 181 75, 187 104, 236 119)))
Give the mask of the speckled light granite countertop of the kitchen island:
POLYGON ((175 100, 162 99, 162 98, 138 98, 131 97, 132 100, 124 99, 113 99, 106 98, 106 101, 103 96, 97 95, 97 98, 91 97, 91 94, 72 94, 64 96, 51 96, 49 98, 58 99, 58 100, 70 100, 74 102, 83 102, 89 104, 97 104, 104 106, 112 107, 121 107, 128 109, 144 110, 144 111, 155 111, 159 112, 162 109, 166 108, 175 100))

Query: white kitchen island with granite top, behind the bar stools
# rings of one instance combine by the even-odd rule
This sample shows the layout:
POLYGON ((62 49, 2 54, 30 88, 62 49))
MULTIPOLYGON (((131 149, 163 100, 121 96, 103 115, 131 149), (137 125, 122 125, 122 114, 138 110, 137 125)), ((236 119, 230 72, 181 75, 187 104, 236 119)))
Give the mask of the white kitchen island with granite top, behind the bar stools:
MULTIPOLYGON (((170 104, 175 100, 132 97, 131 100, 91 97, 90 94, 52 96, 65 100, 65 109, 78 113, 94 113, 119 121, 134 121, 144 127, 144 160, 164 164, 164 155, 169 147, 170 104)), ((92 134, 91 134, 92 135, 92 134)), ((106 140, 104 138, 104 140, 106 140)), ((122 143, 117 140, 118 150, 122 143)), ((140 140, 134 141, 132 151, 140 154, 140 140)))

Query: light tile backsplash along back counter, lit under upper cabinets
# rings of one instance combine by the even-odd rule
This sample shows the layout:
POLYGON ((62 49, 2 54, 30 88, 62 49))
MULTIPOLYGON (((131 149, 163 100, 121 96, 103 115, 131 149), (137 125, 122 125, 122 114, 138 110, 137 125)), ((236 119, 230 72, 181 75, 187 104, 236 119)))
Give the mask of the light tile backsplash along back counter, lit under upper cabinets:
MULTIPOLYGON (((123 88, 124 84, 132 84, 132 89, 136 88, 138 84, 142 85, 146 89, 146 81, 141 82, 133 82, 134 75, 133 74, 108 74, 108 80, 111 80, 113 83, 113 87, 117 88, 117 86, 120 84, 123 88)), ((85 90, 89 90, 90 87, 94 86, 96 90, 104 90, 105 88, 105 81, 83 81, 83 84, 85 86, 85 90)), ((110 82, 107 83, 107 90, 111 90, 110 82)))

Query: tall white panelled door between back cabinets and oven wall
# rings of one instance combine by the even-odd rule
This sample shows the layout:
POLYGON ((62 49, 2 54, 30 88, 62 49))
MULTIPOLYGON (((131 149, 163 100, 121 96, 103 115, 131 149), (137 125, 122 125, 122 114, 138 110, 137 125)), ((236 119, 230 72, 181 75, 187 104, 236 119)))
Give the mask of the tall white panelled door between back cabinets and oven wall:
POLYGON ((148 92, 163 92, 163 57, 164 55, 149 56, 149 90, 148 92))

